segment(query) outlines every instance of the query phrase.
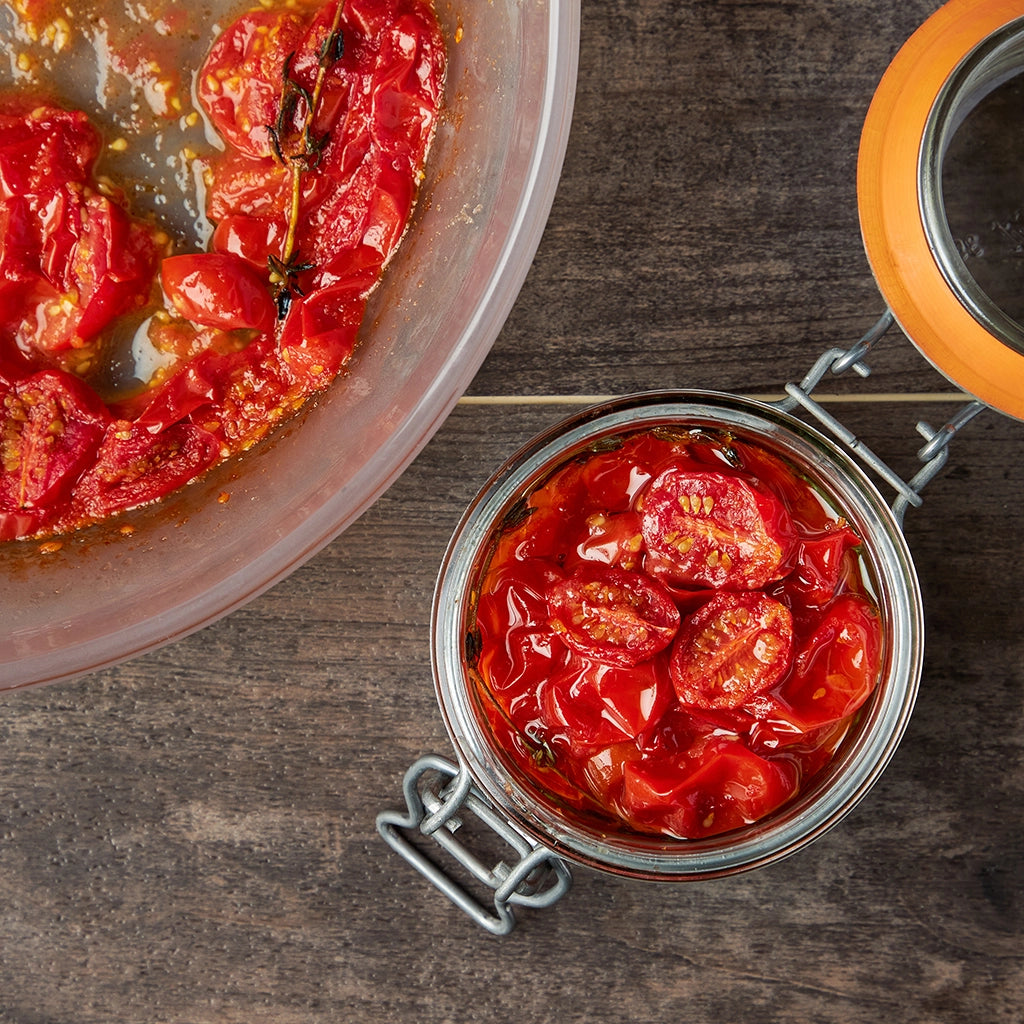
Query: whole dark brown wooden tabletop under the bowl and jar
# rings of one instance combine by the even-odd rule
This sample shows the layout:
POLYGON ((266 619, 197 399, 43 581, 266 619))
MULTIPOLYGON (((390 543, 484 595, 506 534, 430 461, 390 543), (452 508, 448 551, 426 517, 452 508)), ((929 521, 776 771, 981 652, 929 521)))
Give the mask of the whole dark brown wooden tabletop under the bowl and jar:
MULTIPOLYGON (((937 6, 584 0, 536 263, 404 476, 243 610, 0 698, 0 1020, 1019 1024, 1024 426, 994 413, 907 520, 928 626, 909 729, 817 843, 712 882, 578 869, 495 939, 374 827, 412 761, 451 756, 429 605, 490 470, 573 396, 778 393, 882 311, 859 132, 937 6)), ((959 404, 898 332, 872 366, 835 408, 907 471, 914 423, 959 404)))

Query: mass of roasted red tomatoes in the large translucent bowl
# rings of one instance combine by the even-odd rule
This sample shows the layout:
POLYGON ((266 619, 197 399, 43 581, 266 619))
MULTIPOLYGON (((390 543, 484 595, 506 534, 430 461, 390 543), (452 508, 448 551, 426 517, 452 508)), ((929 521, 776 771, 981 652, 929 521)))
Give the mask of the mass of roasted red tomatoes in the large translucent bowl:
MULTIPOLYGON (((0 541, 156 501, 341 372, 409 222, 444 72, 430 0, 264 3, 228 25, 196 77, 223 143, 203 252, 133 215, 83 113, 0 93, 0 541), (112 387, 126 345, 152 369, 112 387)), ((157 84, 173 114, 171 79, 157 84)))

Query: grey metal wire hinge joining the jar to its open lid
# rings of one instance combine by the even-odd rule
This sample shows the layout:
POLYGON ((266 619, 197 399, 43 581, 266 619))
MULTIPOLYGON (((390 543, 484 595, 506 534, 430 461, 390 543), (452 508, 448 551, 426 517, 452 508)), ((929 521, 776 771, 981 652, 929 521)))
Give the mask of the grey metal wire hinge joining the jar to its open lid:
POLYGON ((773 402, 773 404, 786 413, 794 412, 798 407, 810 413, 853 456, 894 487, 897 495, 891 508, 896 521, 902 526, 907 507, 910 505, 914 508, 921 507, 923 503, 922 489, 945 466, 949 458, 949 442, 963 427, 988 407, 975 398, 938 430, 933 430, 927 423, 919 422, 918 432, 927 441, 918 452, 918 459, 924 463, 924 466, 909 481, 906 481, 856 434, 848 430, 835 416, 811 397, 811 392, 818 386, 825 374, 830 373, 833 376, 839 376, 853 370, 859 377, 869 376, 871 371, 864 362, 864 357, 894 323, 893 314, 887 309, 874 326, 852 348, 830 348, 823 352, 800 384, 786 384, 786 397, 781 401, 773 402))

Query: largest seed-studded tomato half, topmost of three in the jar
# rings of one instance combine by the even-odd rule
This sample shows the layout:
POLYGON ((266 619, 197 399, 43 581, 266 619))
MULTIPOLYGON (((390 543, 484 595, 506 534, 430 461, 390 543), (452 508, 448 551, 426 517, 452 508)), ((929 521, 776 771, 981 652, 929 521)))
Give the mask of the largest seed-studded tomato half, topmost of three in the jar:
POLYGON ((692 587, 755 590, 783 574, 794 527, 744 477, 670 466, 641 499, 648 570, 692 587))

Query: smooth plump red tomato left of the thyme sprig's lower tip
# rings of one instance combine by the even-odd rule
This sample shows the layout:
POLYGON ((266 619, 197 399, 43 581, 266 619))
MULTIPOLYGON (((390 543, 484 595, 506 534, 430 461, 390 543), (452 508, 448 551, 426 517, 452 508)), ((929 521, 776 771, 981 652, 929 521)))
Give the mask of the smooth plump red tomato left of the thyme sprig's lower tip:
POLYGON ((161 266, 167 300, 185 319, 223 331, 273 330, 278 308, 266 276, 231 253, 171 256, 161 266))

